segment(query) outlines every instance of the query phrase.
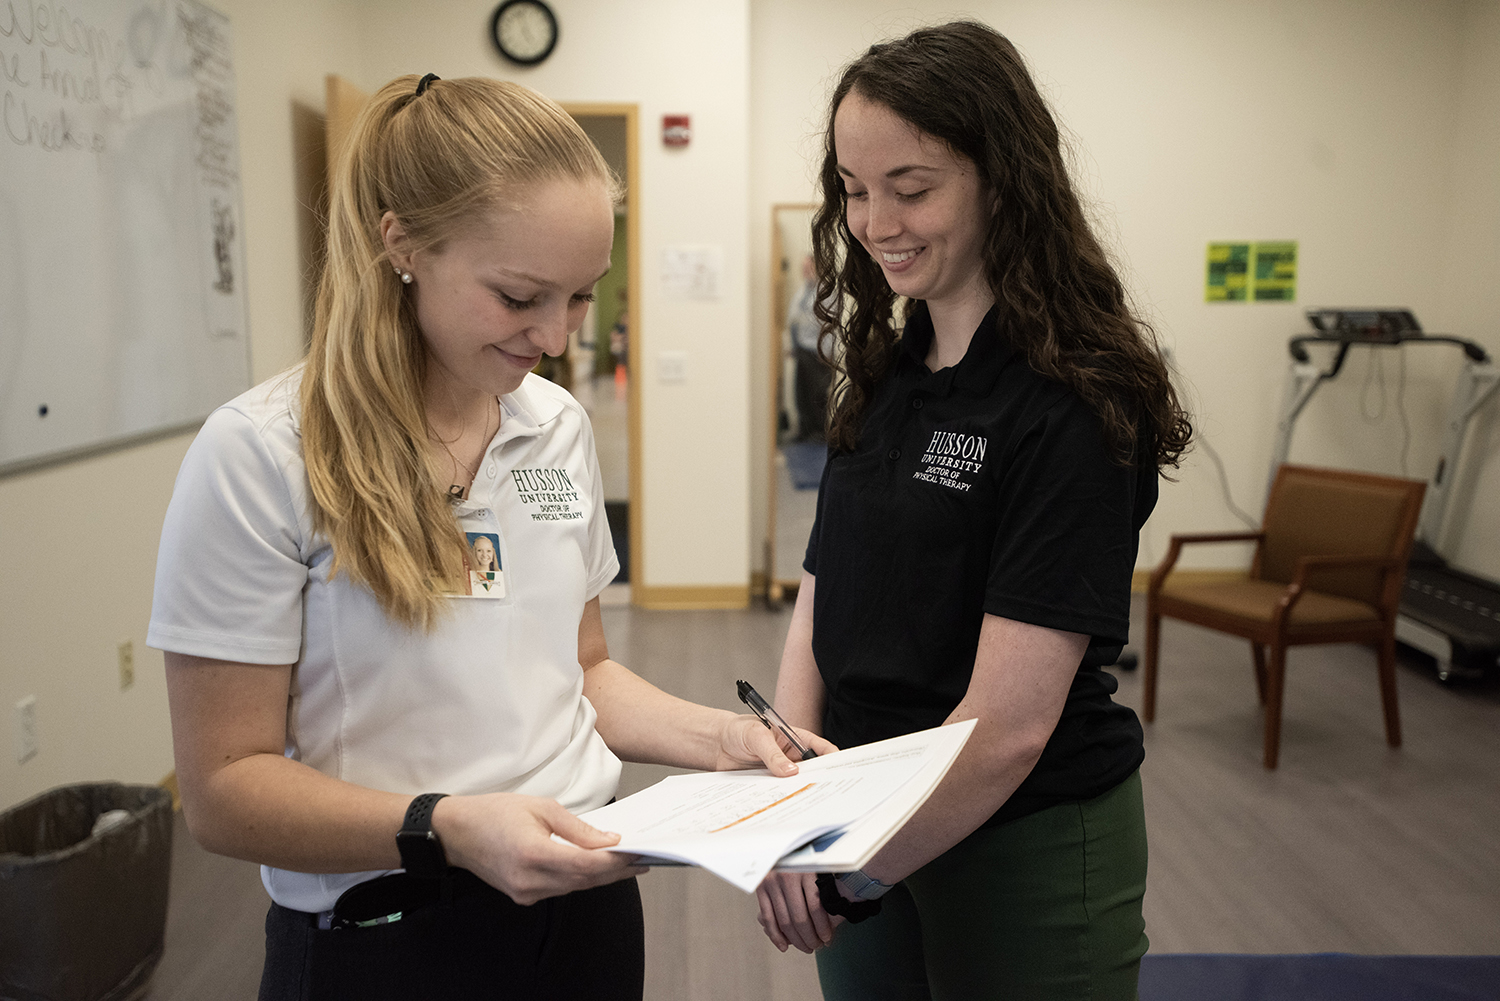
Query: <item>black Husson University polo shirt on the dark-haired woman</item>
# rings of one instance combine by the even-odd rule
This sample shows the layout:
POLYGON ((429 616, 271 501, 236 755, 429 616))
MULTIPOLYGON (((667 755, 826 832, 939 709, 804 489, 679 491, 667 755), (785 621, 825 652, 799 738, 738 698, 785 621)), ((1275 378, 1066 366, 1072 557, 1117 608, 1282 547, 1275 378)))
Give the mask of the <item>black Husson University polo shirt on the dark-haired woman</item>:
POLYGON ((1156 470, 1122 467, 1078 396, 1038 375, 984 318, 930 372, 918 303, 860 446, 831 453, 802 566, 818 578, 813 654, 840 747, 938 726, 974 672, 984 614, 1088 633, 1041 759, 988 824, 1092 798, 1144 758, 1110 695, 1130 629, 1137 533, 1156 470))

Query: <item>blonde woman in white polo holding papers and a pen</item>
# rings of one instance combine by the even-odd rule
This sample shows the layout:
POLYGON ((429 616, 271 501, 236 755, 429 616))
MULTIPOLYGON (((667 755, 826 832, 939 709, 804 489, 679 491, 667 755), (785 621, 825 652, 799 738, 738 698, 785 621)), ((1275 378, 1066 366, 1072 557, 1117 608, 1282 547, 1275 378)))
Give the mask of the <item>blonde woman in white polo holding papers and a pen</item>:
POLYGON ((387 84, 306 362, 183 462, 150 642, 189 830, 262 864, 262 998, 639 998, 642 869, 573 812, 621 758, 795 771, 754 717, 609 659, 592 434, 530 372, 609 269, 612 195, 525 87, 387 84), (465 594, 466 533, 500 540, 502 597, 465 594))

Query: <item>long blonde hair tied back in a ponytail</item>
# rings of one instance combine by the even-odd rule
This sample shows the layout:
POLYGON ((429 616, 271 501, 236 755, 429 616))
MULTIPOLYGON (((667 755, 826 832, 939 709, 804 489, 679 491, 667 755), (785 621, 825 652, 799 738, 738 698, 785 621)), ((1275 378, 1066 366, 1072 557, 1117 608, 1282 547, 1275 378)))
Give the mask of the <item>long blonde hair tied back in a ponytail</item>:
POLYGON ((552 179, 609 168, 556 104, 494 80, 417 77, 381 87, 356 119, 328 204, 328 252, 302 381, 302 447, 314 525, 333 572, 368 587, 393 620, 430 630, 462 581, 465 540, 428 446, 426 351, 380 221, 410 246, 442 240, 552 179))

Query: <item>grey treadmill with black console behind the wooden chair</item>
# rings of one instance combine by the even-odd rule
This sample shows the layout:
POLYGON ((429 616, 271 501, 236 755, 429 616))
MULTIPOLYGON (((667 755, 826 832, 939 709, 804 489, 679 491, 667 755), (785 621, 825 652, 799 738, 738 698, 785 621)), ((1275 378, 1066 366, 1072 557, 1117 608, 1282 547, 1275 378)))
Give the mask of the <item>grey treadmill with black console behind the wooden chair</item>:
POLYGON ((1473 416, 1500 387, 1500 371, 1479 344, 1424 333, 1407 309, 1308 309, 1306 318, 1314 333, 1294 336, 1287 344, 1292 369, 1276 425, 1270 479, 1275 479, 1276 468, 1287 461, 1298 416, 1318 386, 1338 377, 1350 347, 1448 344, 1462 348, 1464 369, 1448 411, 1437 470, 1422 501, 1401 593, 1401 612, 1396 617, 1396 639, 1432 656, 1437 660, 1437 677, 1444 683, 1500 669, 1500 584, 1448 566, 1436 549, 1448 518, 1464 435, 1473 416), (1332 363, 1326 369, 1312 362, 1308 353, 1308 345, 1312 344, 1334 348, 1332 363))

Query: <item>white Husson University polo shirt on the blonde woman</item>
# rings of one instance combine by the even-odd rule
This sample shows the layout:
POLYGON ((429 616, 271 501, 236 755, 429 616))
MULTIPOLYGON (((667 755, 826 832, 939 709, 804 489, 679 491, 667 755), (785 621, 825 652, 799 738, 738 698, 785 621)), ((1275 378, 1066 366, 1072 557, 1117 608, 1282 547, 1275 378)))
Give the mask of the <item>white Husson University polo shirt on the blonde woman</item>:
MULTIPOLYGON (((216 410, 188 450, 156 564, 147 642, 292 663, 286 755, 392 792, 525 792, 603 806, 620 759, 584 698, 578 626, 620 569, 584 408, 536 375, 501 398, 500 431, 454 506, 500 569, 430 633, 392 623, 312 530, 298 431, 302 371, 216 410), (501 587, 495 587, 495 584, 501 587)), ((480 552, 488 555, 482 548, 480 552)), ((272 899, 326 911, 380 875, 262 866, 272 899)))

